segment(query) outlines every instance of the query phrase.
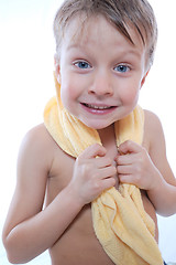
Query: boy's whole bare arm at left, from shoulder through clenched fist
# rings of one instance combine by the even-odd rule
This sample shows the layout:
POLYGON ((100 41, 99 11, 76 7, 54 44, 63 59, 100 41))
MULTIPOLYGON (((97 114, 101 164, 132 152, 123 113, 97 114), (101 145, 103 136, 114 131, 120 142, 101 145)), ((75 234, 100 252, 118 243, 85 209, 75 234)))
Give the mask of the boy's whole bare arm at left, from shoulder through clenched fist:
POLYGON ((114 184, 113 178, 107 178, 116 168, 103 158, 105 148, 95 145, 79 156, 70 183, 42 211, 53 161, 51 145, 56 146, 47 131, 37 128, 25 137, 19 155, 18 183, 3 229, 3 243, 13 263, 29 262, 50 248, 86 203, 114 184))

